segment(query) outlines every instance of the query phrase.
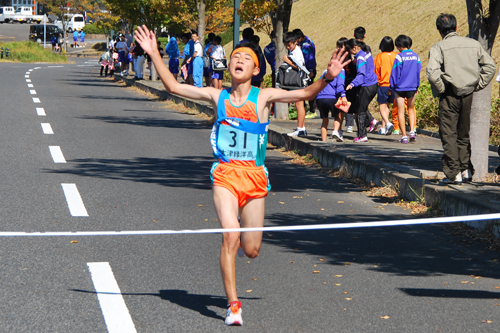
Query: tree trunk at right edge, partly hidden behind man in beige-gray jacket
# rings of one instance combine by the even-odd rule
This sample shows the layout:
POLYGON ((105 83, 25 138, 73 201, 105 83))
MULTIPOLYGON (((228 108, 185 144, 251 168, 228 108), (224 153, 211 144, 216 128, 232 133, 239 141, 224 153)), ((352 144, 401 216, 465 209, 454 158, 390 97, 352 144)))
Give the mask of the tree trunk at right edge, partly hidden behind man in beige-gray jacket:
MULTIPOLYGON (((469 37, 479 41, 491 54, 500 24, 500 0, 489 0, 483 7, 481 0, 466 0, 469 21, 469 37)), ((488 142, 491 112, 491 85, 474 93, 471 108, 471 150, 474 179, 483 178, 488 173, 488 142)))

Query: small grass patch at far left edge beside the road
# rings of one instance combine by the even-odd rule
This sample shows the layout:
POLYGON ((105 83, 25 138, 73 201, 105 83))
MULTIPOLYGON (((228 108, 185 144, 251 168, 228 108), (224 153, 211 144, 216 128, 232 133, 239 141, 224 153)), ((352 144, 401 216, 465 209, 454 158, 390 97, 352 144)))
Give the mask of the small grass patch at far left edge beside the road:
POLYGON ((54 53, 51 49, 44 49, 35 42, 9 42, 0 43, 0 47, 8 48, 10 50, 9 58, 4 58, 2 62, 49 62, 49 63, 67 63, 66 56, 54 53))

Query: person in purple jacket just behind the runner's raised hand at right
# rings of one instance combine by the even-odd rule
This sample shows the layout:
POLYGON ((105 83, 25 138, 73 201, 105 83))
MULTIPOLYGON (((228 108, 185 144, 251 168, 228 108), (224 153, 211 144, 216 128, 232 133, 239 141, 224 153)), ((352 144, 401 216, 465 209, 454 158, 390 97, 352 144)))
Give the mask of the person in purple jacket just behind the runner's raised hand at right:
MULTIPOLYGON (((326 71, 325 71, 326 73, 326 71)), ((323 75, 325 75, 323 73, 323 75)), ((323 77, 323 75, 321 77, 323 77)), ((328 137, 328 115, 331 112, 332 116, 335 118, 333 123, 332 139, 336 139, 337 142, 344 142, 342 137, 342 131, 340 127, 342 126, 342 121, 344 120, 344 113, 335 107, 337 99, 340 98, 342 104, 347 105, 347 98, 344 89, 345 82, 345 70, 342 69, 340 74, 333 79, 332 82, 323 89, 318 96, 316 96, 316 106, 319 109, 319 114, 323 123, 321 124, 321 140, 326 141, 328 137)))

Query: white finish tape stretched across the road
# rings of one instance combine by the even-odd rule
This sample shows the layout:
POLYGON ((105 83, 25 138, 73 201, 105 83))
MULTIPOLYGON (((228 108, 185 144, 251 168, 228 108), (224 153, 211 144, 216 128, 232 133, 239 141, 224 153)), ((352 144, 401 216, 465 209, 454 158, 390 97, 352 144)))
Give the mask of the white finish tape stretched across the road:
POLYGON ((64 237, 64 236, 148 236, 148 235, 185 235, 185 234, 220 234, 226 232, 250 232, 250 231, 307 231, 325 229, 353 229, 353 228, 374 228, 374 227, 397 227, 404 225, 423 225, 434 223, 456 223, 469 221, 498 220, 500 213, 434 217, 424 219, 407 219, 394 221, 372 221, 372 222, 352 222, 352 223, 330 223, 330 224, 309 224, 291 226, 269 226, 259 228, 217 228, 217 229, 192 229, 192 230, 130 230, 130 231, 53 231, 53 232, 10 232, 0 231, 0 237, 64 237))

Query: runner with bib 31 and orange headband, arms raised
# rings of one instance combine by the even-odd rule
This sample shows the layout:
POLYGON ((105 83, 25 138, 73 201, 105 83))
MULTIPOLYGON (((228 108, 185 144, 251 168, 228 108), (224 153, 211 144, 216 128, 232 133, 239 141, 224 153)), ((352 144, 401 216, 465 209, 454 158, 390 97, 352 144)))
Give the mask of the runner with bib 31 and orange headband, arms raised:
MULTIPOLYGON (((222 228, 239 228, 238 215, 242 227, 262 227, 265 197, 270 187, 264 166, 269 104, 311 100, 347 65, 343 62, 345 51, 336 50, 323 79, 305 89, 260 90, 251 86, 252 77, 260 71, 258 50, 252 43, 240 43, 230 58, 231 88, 221 91, 178 83, 161 59, 154 32, 146 26, 138 27, 135 38, 151 55, 169 93, 211 102, 217 110, 210 141, 218 161, 212 166, 211 178, 215 209, 222 228)), ((229 303, 226 325, 243 325, 241 302, 236 294, 236 253, 241 246, 247 257, 255 258, 261 243, 262 232, 223 235, 220 267, 229 303)))

